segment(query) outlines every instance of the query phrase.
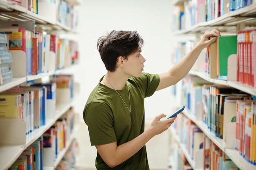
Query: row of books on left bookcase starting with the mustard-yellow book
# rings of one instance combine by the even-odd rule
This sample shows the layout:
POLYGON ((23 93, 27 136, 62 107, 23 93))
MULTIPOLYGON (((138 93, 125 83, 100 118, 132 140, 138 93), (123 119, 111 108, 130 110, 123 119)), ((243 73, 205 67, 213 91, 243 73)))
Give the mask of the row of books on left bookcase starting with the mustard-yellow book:
MULTIPOLYGON (((46 119, 54 117, 57 89, 70 91, 74 95, 73 75, 54 75, 52 82, 34 83, 29 86, 10 88, 0 93, 0 118, 20 118, 26 122, 26 135, 44 126, 46 119), (52 108, 51 108, 52 107, 52 108)), ((69 94, 69 93, 68 93, 69 94)), ((61 95, 61 94, 60 94, 61 95)))

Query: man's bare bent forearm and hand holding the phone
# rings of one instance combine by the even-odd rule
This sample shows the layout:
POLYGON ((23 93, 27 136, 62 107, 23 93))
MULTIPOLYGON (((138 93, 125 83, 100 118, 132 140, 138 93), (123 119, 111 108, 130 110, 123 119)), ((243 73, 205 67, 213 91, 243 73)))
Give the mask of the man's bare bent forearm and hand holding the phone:
POLYGON ((164 117, 164 114, 156 116, 145 132, 120 146, 117 146, 117 142, 97 145, 96 148, 99 155, 101 155, 104 162, 111 168, 123 163, 138 152, 152 137, 168 129, 177 116, 160 120, 162 117, 164 117))

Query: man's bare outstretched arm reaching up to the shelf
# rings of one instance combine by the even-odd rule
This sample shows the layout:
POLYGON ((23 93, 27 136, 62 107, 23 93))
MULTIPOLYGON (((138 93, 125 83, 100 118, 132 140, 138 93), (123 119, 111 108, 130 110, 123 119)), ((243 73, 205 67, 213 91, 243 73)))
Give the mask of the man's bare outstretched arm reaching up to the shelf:
POLYGON ((174 85, 184 78, 194 65, 202 49, 216 41, 219 36, 220 32, 216 29, 205 32, 200 42, 187 55, 177 62, 177 64, 175 64, 169 71, 159 74, 160 82, 157 91, 174 85), (210 39, 210 37, 213 38, 210 39))

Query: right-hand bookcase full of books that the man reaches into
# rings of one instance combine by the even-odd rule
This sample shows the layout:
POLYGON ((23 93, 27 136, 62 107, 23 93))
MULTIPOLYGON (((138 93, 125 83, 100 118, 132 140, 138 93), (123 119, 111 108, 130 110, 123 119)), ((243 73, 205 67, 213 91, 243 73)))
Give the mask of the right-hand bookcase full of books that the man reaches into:
POLYGON ((176 0, 173 62, 217 29, 189 74, 176 85, 177 106, 186 109, 169 129, 173 170, 255 170, 256 1, 176 0), (200 36, 201 35, 201 36, 200 36), (181 96, 181 97, 180 97, 181 96))

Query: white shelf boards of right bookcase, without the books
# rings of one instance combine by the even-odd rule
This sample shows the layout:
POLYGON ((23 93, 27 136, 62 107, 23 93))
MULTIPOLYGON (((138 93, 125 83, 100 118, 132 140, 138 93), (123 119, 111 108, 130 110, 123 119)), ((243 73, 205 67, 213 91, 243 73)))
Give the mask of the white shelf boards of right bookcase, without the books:
MULTIPOLYGON (((185 0, 189 1, 189 0, 185 0)), ((185 2, 184 0, 177 0, 173 2, 173 5, 180 6, 183 5, 185 2)), ((254 1, 255 2, 255 1, 254 1)), ((222 35, 237 35, 237 31, 243 30, 243 29, 255 29, 256 28, 256 4, 252 4, 247 7, 243 7, 241 9, 237 9, 235 11, 228 12, 218 18, 215 18, 213 20, 207 21, 207 22, 199 22, 198 24, 192 25, 188 29, 181 29, 181 30, 174 30, 173 35, 174 36, 186 36, 186 35, 196 35, 199 37, 202 35, 205 31, 211 31, 212 29, 217 29, 222 33, 222 35)), ((206 82, 215 84, 215 85, 225 85, 230 86, 236 89, 239 89, 240 91, 243 91, 245 93, 249 93, 253 96, 256 96, 256 88, 253 86, 249 86, 247 84, 243 84, 238 81, 229 81, 229 80, 222 80, 222 79, 212 79, 209 78, 207 74, 200 71, 189 71, 189 75, 200 77, 201 79, 205 80, 206 82)), ((176 101, 177 102, 177 101, 176 101)), ((202 103, 201 103, 202 104, 202 103)), ((180 103, 177 102, 177 108, 180 107, 180 103)), ((201 108, 198 107, 198 108, 201 108)), ((198 112, 198 110, 196 110, 198 112)), ((202 117, 202 113, 196 113, 197 115, 193 115, 190 110, 184 109, 182 112, 185 117, 187 117, 189 120, 191 120, 193 123, 195 123, 196 126, 198 126, 204 135, 206 135, 220 150, 222 150, 235 164, 240 170, 255 170, 256 166, 252 163, 249 163, 240 153, 235 150, 235 148, 232 145, 231 139, 227 137, 227 140, 224 141, 220 137, 216 137, 216 134, 211 132, 209 130, 209 127, 200 119, 202 117), (199 117, 199 118, 198 118, 199 117)), ((227 135, 236 135, 236 123, 229 123, 227 127, 227 135)), ((175 130, 172 128, 169 130, 171 136, 180 146, 182 152, 184 153, 187 161, 189 162, 190 166, 193 168, 193 170, 202 170, 201 168, 196 167, 195 165, 198 164, 198 161, 191 160, 190 155, 186 154, 187 149, 186 147, 182 147, 182 144, 180 144, 179 137, 177 136, 175 130)), ((232 138, 235 139, 235 138, 232 138)), ((170 159, 171 160, 171 159, 170 159)))

